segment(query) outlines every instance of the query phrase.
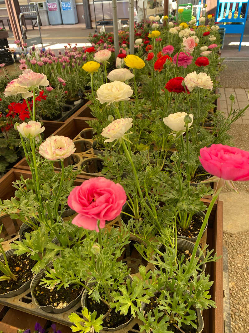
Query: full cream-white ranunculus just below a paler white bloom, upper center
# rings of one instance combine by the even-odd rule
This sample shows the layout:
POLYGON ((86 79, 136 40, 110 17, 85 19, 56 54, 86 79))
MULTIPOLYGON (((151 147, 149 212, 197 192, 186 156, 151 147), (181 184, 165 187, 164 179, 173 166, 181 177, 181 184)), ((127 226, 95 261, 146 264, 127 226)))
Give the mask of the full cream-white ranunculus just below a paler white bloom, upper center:
POLYGON ((110 105, 113 102, 128 101, 133 94, 133 90, 124 82, 114 81, 103 84, 96 93, 97 100, 101 104, 108 103, 110 105))

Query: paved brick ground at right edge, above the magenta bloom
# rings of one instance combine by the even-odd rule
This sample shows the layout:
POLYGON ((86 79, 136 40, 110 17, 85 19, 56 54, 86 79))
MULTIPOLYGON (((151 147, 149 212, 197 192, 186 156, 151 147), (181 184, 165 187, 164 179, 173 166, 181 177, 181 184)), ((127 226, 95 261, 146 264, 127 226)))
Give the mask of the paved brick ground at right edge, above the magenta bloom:
MULTIPOLYGON (((231 110, 231 101, 229 96, 231 94, 235 97, 233 109, 243 109, 249 104, 248 100, 249 88, 219 88, 220 93, 220 111, 228 116, 231 110)), ((249 108, 245 111, 245 115, 236 121, 236 124, 249 124, 249 108)))

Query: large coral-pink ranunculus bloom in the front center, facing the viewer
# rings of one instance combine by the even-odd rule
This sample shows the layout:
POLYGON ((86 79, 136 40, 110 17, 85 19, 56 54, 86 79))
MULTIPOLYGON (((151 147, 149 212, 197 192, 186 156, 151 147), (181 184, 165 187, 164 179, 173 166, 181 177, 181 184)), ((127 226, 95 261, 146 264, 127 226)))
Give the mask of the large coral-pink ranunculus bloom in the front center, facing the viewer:
POLYGON ((74 187, 68 196, 68 205, 78 215, 72 223, 85 229, 105 227, 106 221, 115 219, 126 201, 124 188, 114 181, 104 177, 85 180, 80 186, 74 187))

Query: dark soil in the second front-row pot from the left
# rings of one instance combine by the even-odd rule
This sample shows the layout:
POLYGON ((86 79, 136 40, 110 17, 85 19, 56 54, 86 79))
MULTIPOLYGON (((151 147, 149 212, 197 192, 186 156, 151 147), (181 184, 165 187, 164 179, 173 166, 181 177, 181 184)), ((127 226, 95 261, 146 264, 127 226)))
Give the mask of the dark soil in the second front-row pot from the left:
MULTIPOLYGON (((41 277, 43 278, 44 275, 41 277)), ((38 303, 41 306, 52 305, 55 308, 61 309, 77 298, 83 287, 74 288, 75 285, 70 284, 68 287, 61 287, 59 290, 56 290, 56 286, 53 289, 47 289, 44 286, 40 285, 41 280, 38 282, 35 287, 34 294, 38 303)))

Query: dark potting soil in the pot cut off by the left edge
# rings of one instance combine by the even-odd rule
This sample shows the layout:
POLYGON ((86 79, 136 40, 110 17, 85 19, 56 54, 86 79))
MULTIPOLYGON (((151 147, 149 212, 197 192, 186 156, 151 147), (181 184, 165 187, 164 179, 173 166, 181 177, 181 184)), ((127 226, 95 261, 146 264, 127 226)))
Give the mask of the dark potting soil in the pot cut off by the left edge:
MULTIPOLYGON (((0 294, 5 294, 12 290, 17 290, 22 284, 31 280, 34 276, 31 269, 36 261, 27 256, 27 254, 11 255, 8 259, 8 265, 13 274, 17 275, 17 281, 0 281, 0 294)), ((2 260, 4 262, 4 260, 2 260)), ((4 275, 0 272, 0 276, 4 275)))

